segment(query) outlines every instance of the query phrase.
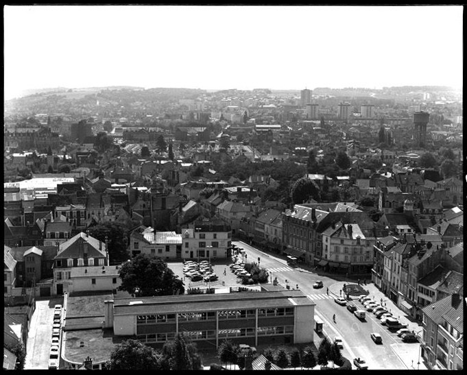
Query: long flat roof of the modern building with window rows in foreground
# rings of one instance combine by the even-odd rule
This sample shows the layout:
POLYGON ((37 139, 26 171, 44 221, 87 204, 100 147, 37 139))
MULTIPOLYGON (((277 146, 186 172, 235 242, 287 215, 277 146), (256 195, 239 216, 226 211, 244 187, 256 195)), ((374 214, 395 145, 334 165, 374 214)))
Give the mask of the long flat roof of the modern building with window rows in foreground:
POLYGON ((150 298, 114 300, 114 315, 150 313, 193 313, 229 309, 259 309, 269 307, 314 306, 315 302, 300 290, 253 291, 226 294, 170 295, 150 298), (130 302, 141 301, 138 304, 130 302))

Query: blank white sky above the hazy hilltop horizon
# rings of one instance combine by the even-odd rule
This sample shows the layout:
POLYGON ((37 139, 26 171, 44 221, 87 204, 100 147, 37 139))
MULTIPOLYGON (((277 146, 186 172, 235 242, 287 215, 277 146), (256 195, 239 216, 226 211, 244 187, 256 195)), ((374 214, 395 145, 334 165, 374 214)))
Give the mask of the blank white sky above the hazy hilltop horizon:
POLYGON ((461 5, 5 5, 5 99, 35 88, 462 88, 461 5))

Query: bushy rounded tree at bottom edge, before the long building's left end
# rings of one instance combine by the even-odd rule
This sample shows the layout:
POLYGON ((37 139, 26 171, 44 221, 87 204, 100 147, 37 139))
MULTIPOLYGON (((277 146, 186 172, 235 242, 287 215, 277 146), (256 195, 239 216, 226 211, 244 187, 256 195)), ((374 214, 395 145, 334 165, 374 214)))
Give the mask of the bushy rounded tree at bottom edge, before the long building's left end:
POLYGON ((160 355, 137 340, 123 340, 110 352, 108 370, 161 370, 160 355))

